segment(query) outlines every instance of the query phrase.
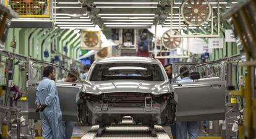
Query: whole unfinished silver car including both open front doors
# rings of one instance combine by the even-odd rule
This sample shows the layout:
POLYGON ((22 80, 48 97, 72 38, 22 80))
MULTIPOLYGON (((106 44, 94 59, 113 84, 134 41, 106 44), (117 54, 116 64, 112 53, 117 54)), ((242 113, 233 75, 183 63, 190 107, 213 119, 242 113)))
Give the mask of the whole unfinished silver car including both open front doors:
MULTIPOLYGON (((29 66, 33 67, 33 64, 29 66)), ((30 119, 39 119, 35 112, 38 83, 31 78, 28 81, 30 119)), ((219 77, 193 83, 169 83, 163 65, 156 59, 111 57, 93 62, 83 84, 56 85, 64 120, 108 125, 119 122, 123 116, 132 116, 135 123, 143 125, 169 125, 174 121, 224 119, 225 83, 219 77), (90 80, 97 64, 113 63, 158 65, 163 80, 90 80)))

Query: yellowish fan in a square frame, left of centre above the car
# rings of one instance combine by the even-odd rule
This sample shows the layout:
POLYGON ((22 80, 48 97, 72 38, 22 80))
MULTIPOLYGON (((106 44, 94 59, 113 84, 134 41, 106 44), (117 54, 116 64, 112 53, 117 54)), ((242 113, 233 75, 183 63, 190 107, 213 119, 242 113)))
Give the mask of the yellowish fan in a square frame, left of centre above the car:
POLYGON ((100 32, 83 30, 82 49, 100 49, 100 32))

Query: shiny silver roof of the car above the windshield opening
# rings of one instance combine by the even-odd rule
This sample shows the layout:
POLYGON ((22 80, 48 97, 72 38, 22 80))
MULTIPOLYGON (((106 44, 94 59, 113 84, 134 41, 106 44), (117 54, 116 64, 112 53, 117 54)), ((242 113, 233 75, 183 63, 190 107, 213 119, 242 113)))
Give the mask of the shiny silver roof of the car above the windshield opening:
POLYGON ((137 56, 120 56, 120 57, 109 57, 95 61, 95 64, 101 63, 113 63, 113 62, 139 62, 139 63, 151 63, 160 64, 156 59, 150 57, 137 57, 137 56))

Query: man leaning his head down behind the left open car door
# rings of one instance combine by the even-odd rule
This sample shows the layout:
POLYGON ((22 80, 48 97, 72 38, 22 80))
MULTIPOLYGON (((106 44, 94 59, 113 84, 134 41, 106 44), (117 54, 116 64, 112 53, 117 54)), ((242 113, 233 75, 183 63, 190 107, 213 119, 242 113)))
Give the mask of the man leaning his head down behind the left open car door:
MULTIPOLYGON (((79 77, 79 72, 77 72, 77 70, 71 69, 70 71, 73 72, 77 77, 79 77)), ((66 78, 62 78, 61 80, 58 80, 57 82, 75 82, 77 80, 77 77, 75 77, 75 75, 69 73, 69 74, 67 74, 66 78)), ((64 127, 63 128, 64 138, 70 139, 72 137, 73 128, 74 128, 73 122, 63 121, 62 125, 64 127)))

